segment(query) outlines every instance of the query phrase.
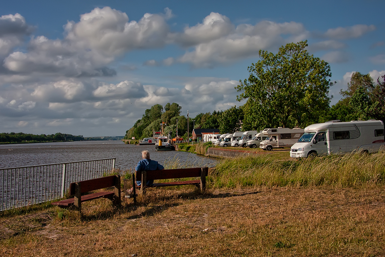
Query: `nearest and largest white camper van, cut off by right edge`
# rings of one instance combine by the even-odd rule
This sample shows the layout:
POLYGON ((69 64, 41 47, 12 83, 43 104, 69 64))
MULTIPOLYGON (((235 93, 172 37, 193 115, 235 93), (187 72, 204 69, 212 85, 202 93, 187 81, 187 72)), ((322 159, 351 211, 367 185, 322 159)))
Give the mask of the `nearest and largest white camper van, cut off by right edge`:
POLYGON ((291 146, 290 157, 343 154, 353 151, 373 153, 384 147, 382 121, 328 121, 305 128, 298 143, 291 146))

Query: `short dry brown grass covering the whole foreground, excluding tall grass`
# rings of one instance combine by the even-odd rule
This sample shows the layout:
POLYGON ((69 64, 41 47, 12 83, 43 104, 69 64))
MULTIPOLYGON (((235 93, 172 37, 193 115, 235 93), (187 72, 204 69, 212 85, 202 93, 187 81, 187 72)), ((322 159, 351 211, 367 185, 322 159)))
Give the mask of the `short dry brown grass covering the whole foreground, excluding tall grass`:
POLYGON ((0 220, 4 256, 384 256, 385 186, 148 191, 0 220), (126 200, 124 200, 126 201, 126 200))

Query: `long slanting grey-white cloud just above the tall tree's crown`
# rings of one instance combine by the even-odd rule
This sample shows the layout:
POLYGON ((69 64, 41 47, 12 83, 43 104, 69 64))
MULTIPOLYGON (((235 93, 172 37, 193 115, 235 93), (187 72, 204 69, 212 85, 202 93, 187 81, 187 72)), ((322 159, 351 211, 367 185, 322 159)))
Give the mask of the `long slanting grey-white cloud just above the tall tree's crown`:
POLYGON ((177 59, 194 67, 213 67, 258 55, 260 49, 272 49, 285 42, 298 42, 308 35, 302 24, 263 21, 255 26, 239 25, 232 34, 197 45, 177 59), (283 37, 285 35, 285 37, 283 37), (289 35, 289 37, 286 37, 289 35))

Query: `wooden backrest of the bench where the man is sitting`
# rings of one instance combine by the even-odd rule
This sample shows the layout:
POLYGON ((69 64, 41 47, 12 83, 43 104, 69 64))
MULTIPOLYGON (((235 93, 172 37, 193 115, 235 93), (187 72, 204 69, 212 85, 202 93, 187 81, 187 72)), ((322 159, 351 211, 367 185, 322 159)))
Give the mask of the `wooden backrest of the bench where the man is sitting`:
MULTIPOLYGON (((206 170, 206 175, 208 176, 208 168, 206 170)), ((186 168, 186 169, 170 169, 170 170, 147 170, 147 180, 161 180, 169 178, 193 178, 201 176, 201 168, 186 168)), ((136 172, 137 180, 141 180, 142 172, 136 172)))

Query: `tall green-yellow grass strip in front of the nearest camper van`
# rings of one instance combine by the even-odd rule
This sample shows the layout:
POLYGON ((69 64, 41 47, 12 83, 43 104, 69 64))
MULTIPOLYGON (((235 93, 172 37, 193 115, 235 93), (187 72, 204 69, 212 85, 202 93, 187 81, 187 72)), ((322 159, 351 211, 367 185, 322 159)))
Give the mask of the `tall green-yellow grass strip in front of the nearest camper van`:
POLYGON ((360 187, 383 183, 385 153, 330 155, 298 160, 245 156, 219 163, 210 174, 213 187, 320 186, 360 187))

